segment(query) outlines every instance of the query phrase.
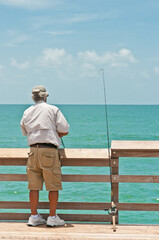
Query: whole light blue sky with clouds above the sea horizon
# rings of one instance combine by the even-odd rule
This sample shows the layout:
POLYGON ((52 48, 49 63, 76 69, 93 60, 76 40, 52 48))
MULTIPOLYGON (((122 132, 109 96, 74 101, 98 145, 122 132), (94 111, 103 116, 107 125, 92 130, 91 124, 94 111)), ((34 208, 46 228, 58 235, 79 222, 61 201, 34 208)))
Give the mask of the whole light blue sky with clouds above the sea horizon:
POLYGON ((158 0, 0 0, 0 103, 159 104, 158 0))

